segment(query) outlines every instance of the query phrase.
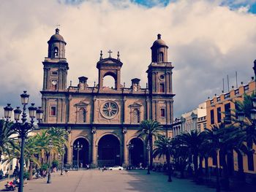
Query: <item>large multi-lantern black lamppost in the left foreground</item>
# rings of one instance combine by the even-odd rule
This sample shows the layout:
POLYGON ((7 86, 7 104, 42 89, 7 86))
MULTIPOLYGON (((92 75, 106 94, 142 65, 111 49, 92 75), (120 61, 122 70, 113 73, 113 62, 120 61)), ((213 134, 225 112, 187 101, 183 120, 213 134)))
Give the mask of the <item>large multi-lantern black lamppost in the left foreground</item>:
MULTIPOLYGON (((42 120, 43 110, 41 107, 37 109, 37 107, 34 107, 34 104, 31 104, 31 107, 29 107, 29 118, 31 118, 30 123, 27 122, 27 115, 26 115, 26 105, 29 104, 29 95, 26 93, 26 91, 23 91, 23 93, 20 95, 21 104, 23 105, 23 111, 20 110, 20 107, 17 107, 17 109, 14 110, 14 119, 15 123, 13 123, 12 128, 19 134, 19 138, 21 139, 21 145, 20 145, 20 183, 18 192, 23 192, 23 177, 24 177, 24 145, 25 145, 25 139, 28 136, 29 131, 34 129, 34 118, 37 118, 37 120, 40 122, 42 120), (22 122, 20 123, 20 114, 22 113, 22 122)), ((7 122, 9 122, 10 118, 12 118, 12 107, 11 104, 7 104, 7 107, 4 107, 4 118, 6 118, 7 122)))

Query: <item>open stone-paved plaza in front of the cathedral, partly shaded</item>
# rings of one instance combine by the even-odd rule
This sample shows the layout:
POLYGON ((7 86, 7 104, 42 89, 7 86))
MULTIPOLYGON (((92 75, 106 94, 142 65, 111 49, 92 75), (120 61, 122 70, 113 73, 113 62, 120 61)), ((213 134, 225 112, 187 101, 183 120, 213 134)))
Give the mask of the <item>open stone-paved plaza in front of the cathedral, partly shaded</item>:
MULTIPOLYGON (((63 176, 60 173, 52 174, 52 183, 47 184, 46 178, 27 181, 24 192, 211 192, 214 188, 195 185, 189 180, 173 178, 167 182, 167 176, 146 170, 132 171, 99 171, 97 169, 70 171, 63 176)), ((16 190, 17 191, 17 190, 16 190)))

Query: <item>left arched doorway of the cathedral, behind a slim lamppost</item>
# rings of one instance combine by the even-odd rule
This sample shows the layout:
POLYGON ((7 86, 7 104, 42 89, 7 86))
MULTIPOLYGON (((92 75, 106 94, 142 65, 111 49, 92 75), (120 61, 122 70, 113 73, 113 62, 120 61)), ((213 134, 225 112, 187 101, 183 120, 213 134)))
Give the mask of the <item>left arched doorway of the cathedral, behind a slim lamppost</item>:
POLYGON ((72 164, 73 167, 83 166, 86 167, 86 164, 89 164, 89 142, 84 139, 84 138, 78 138, 75 139, 75 142, 73 143, 73 157, 72 157, 72 164), (75 146, 83 145, 81 150, 75 150, 75 146), (78 155, 79 153, 79 155, 78 155), (78 161, 78 156, 79 156, 79 161, 78 161))

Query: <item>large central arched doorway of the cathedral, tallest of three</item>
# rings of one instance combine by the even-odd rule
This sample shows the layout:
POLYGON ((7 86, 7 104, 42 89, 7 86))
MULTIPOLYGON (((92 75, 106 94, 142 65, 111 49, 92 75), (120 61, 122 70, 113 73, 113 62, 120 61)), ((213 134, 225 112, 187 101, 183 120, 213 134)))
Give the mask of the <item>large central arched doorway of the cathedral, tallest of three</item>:
POLYGON ((117 137, 107 134, 99 139, 98 166, 115 166, 121 164, 120 142, 117 137))

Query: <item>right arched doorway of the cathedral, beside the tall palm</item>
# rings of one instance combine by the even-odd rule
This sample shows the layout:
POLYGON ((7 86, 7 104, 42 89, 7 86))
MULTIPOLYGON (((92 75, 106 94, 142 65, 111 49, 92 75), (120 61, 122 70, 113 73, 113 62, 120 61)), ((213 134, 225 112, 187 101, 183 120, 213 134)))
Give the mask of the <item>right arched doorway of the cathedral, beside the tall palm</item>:
POLYGON ((130 141, 131 145, 133 145, 133 148, 132 150, 130 150, 130 164, 132 166, 137 166, 139 167, 140 164, 143 164, 144 165, 144 152, 143 152, 143 149, 144 149, 144 144, 143 144, 143 141, 139 138, 133 138, 131 141, 130 141))

